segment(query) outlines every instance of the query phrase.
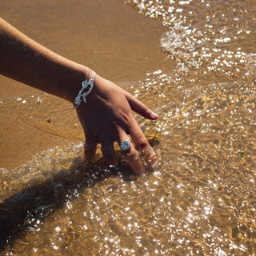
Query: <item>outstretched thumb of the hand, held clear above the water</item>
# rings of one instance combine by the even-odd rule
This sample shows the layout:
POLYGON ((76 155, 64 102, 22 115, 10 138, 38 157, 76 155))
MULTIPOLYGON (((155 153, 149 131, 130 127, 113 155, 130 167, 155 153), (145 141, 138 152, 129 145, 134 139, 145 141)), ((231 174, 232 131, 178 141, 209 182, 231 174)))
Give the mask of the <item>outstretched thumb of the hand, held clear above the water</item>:
POLYGON ((126 94, 126 98, 130 104, 130 108, 134 110, 136 113, 142 115, 142 117, 148 118, 151 120, 155 120, 158 118, 158 114, 150 110, 145 104, 140 102, 137 98, 134 98, 130 94, 126 94))

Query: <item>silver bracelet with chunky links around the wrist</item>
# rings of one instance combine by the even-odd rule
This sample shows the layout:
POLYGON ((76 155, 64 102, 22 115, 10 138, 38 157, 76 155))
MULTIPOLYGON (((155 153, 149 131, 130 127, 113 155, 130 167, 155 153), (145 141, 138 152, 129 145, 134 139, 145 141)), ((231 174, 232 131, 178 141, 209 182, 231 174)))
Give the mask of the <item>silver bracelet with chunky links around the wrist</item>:
POLYGON ((93 73, 92 78, 88 81, 89 68, 87 68, 86 80, 82 81, 82 88, 78 92, 78 96, 74 98, 74 108, 81 105, 82 101, 86 103, 86 98, 94 88, 94 80, 96 73, 93 73))

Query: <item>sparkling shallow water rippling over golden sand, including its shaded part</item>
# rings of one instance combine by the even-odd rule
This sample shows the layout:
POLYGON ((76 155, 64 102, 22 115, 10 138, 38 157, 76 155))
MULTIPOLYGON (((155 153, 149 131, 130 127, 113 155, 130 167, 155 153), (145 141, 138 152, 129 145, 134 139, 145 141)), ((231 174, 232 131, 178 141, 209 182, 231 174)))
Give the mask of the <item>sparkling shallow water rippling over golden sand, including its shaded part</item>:
POLYGON ((2 170, 1 222, 17 239, 1 255, 256 254, 255 2, 129 2, 163 22, 177 62, 130 88, 160 116, 137 119, 159 170, 86 166, 80 144, 2 170))

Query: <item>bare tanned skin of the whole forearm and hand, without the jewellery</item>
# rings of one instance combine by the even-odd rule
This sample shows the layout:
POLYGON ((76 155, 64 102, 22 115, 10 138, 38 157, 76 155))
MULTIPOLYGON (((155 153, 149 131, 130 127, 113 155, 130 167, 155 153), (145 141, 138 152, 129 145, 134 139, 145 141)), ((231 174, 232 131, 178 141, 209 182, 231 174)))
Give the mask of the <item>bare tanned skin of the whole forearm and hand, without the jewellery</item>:
MULTIPOLYGON (((86 80, 86 66, 46 49, 2 18, 0 49, 0 74, 74 103, 74 98, 81 89, 81 82, 86 80)), ((89 69, 89 78, 92 75, 93 70, 89 69)), ((132 111, 151 120, 157 119, 158 115, 126 90, 97 74, 94 89, 88 95, 87 102, 82 102, 76 110, 86 137, 86 160, 93 158, 100 143, 106 162, 115 165, 113 143, 120 144, 129 139, 130 134, 134 145, 123 153, 134 173, 142 175, 146 172, 139 153, 151 169, 157 168, 154 150, 142 134, 132 111)))

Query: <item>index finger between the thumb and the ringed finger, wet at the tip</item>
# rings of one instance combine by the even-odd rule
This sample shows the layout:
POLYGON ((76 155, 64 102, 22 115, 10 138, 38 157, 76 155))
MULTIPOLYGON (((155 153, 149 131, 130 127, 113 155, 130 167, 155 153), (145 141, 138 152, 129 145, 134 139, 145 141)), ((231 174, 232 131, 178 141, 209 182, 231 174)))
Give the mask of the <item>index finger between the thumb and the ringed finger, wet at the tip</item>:
POLYGON ((130 136, 141 153, 142 158, 145 159, 146 165, 149 166, 151 170, 156 170, 158 168, 158 158, 153 148, 146 140, 142 130, 139 128, 138 123, 134 120, 130 127, 130 136))

